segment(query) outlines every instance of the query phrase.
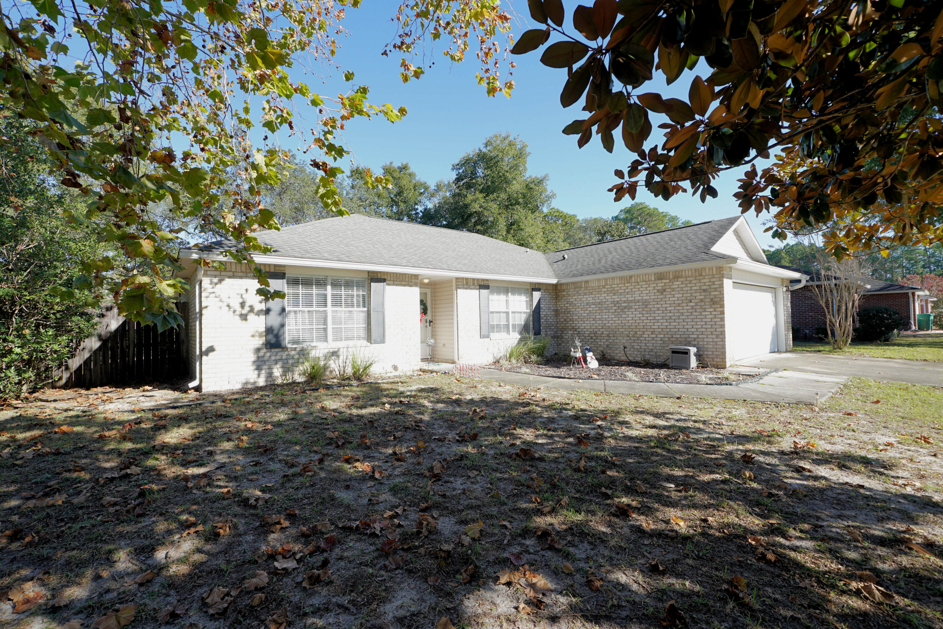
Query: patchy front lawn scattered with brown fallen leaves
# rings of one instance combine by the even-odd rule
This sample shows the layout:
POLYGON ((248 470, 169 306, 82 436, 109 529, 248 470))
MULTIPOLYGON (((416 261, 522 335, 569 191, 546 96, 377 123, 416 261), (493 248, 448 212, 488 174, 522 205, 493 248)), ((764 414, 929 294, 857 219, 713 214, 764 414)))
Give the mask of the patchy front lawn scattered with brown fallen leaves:
POLYGON ((4 626, 943 627, 941 389, 126 393, 0 414, 4 626))

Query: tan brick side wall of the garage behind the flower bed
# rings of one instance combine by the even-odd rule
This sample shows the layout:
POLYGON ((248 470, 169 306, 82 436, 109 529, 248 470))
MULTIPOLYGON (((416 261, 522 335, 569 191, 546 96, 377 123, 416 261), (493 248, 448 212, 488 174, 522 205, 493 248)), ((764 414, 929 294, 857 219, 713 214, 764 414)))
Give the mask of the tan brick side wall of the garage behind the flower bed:
POLYGON ((692 345, 726 367, 725 283, 731 270, 718 266, 558 284, 554 349, 569 352, 576 335, 596 356, 661 362, 670 345, 692 345))

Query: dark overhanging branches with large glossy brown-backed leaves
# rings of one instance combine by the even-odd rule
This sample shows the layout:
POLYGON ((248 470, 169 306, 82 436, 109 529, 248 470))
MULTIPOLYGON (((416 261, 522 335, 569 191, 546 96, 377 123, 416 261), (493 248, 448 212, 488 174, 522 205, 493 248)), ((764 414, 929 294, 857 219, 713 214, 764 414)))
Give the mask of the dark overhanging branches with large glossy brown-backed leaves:
POLYGON ((745 169, 743 212, 771 211, 772 235, 828 224, 835 257, 943 240, 943 4, 930 0, 596 0, 566 10, 528 0, 541 25, 512 53, 541 50, 565 72, 563 132, 582 147, 617 137, 637 158, 610 190, 716 197, 745 169), (703 63, 701 61, 703 60, 703 63), (694 70, 703 68, 704 76, 694 70), (687 71, 687 72, 686 72, 687 71), (646 84, 660 73, 687 100, 646 84), (658 114, 654 118, 653 114, 658 114), (663 116, 664 118, 662 118, 663 116), (659 120, 664 120, 658 124, 659 120), (653 124, 664 137, 653 135, 653 124), (778 159, 757 171, 753 163, 778 159))

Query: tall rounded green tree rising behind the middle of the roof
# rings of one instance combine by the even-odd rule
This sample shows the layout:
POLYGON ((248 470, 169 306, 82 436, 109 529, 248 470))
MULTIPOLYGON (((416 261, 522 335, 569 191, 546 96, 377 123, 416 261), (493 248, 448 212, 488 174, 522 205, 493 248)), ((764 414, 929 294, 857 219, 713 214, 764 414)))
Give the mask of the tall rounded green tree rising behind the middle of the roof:
POLYGON ((455 177, 438 186, 425 224, 462 229, 543 251, 544 212, 554 193, 547 175, 527 174, 527 144, 498 133, 452 165, 455 177))

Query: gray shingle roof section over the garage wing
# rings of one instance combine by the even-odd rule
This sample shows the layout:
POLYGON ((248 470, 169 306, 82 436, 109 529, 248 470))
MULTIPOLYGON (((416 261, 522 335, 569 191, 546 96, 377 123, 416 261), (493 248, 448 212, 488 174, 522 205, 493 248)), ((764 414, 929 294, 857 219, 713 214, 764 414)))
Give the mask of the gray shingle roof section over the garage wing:
POLYGON ((544 254, 559 279, 720 261, 711 247, 740 220, 732 216, 544 254), (563 259, 566 254, 567 258, 563 259))

